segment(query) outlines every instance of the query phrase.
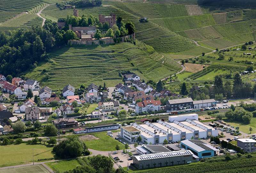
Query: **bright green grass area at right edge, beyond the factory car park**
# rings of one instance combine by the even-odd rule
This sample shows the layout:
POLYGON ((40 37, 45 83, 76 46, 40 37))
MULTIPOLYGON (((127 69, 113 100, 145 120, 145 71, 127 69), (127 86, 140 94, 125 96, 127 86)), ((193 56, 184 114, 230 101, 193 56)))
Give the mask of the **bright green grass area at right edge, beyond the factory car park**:
MULTIPOLYGON (((252 133, 256 132, 256 118, 255 117, 252 117, 250 124, 244 124, 243 122, 237 122, 237 121, 231 121, 231 122, 227 122, 227 123, 229 123, 231 126, 239 127, 240 131, 247 133, 247 134, 250 134, 250 130, 249 130, 250 127, 252 127, 252 133)), ((239 138, 243 138, 243 137, 239 136, 239 138)))

